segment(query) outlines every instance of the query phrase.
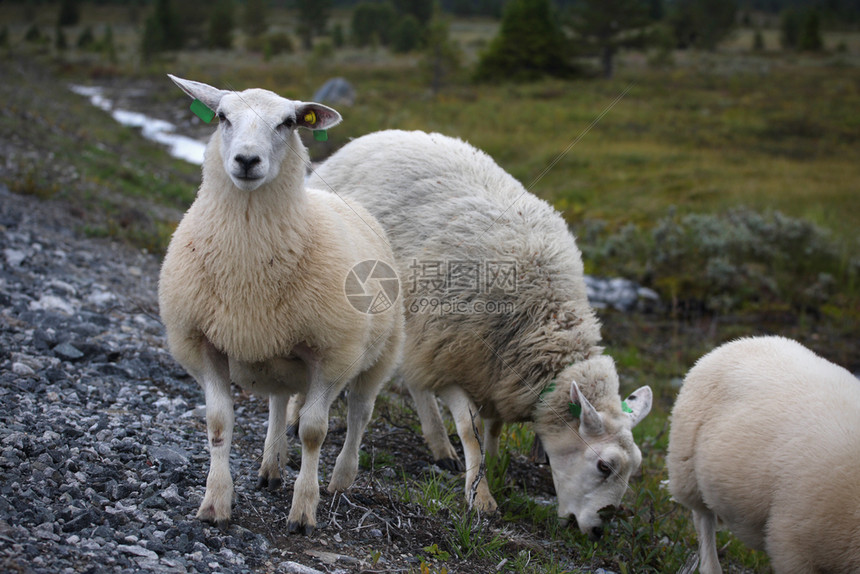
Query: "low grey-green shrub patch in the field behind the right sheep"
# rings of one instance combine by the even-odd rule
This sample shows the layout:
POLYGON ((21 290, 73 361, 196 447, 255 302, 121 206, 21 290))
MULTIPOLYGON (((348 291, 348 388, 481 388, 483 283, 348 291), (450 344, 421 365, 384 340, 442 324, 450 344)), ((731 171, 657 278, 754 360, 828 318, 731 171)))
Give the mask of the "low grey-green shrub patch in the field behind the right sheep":
POLYGON ((607 233, 592 223, 579 234, 589 270, 635 279, 714 313, 817 310, 856 298, 835 287, 856 284, 860 259, 846 256, 827 230, 778 211, 670 213, 650 230, 630 224, 607 233))

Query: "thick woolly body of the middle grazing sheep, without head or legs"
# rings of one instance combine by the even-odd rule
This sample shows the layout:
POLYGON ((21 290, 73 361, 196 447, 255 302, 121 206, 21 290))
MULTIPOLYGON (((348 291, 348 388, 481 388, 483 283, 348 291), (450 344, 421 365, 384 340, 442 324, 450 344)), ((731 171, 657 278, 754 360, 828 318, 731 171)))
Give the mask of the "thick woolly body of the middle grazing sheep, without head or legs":
POLYGON ((504 418, 526 416, 531 403, 495 397, 528 395, 533 403, 533 393, 521 393, 523 381, 542 381, 598 343, 581 256, 564 220, 483 152, 439 134, 380 132, 347 144, 311 183, 360 203, 386 229, 404 287, 403 371, 411 384, 460 384, 486 408, 510 409, 504 418), (515 285, 477 294, 450 283, 441 294, 421 287, 425 266, 447 273, 463 263, 482 266, 485 281, 488 264, 506 266, 515 285), (492 299, 513 312, 426 312, 428 300, 442 298, 492 299))

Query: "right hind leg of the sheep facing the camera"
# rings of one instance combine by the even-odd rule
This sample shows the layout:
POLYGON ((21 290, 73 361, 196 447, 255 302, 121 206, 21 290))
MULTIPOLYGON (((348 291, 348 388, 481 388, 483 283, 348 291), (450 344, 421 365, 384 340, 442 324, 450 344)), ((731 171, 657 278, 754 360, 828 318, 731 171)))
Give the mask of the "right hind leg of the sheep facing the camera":
POLYGON ((334 465, 334 472, 328 485, 329 492, 346 490, 352 486, 358 474, 358 449, 361 447, 361 437, 373 414, 376 395, 379 394, 379 390, 385 383, 385 377, 390 371, 390 362, 387 357, 383 357, 350 384, 347 397, 346 439, 334 465))

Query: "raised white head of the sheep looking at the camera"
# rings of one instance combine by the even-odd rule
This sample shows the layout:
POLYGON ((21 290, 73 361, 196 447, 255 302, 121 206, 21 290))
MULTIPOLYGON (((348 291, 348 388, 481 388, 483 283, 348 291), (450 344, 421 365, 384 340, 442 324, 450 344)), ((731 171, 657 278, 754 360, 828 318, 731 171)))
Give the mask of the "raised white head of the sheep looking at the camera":
POLYGON ((324 130, 341 121, 339 113, 322 104, 288 100, 262 89, 220 90, 169 76, 218 116, 224 171, 243 191, 276 179, 287 154, 304 153, 296 128, 324 130))

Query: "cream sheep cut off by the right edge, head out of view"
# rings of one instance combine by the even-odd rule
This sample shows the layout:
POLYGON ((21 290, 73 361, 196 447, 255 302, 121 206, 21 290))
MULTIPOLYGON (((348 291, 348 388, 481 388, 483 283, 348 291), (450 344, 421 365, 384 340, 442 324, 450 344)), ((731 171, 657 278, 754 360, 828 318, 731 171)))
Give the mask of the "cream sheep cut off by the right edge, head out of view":
POLYGON ((801 344, 746 338, 699 359, 667 464, 702 574, 721 572, 718 518, 777 574, 860 572, 860 381, 801 344))

